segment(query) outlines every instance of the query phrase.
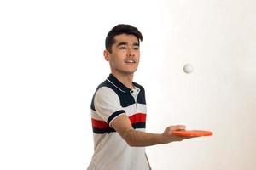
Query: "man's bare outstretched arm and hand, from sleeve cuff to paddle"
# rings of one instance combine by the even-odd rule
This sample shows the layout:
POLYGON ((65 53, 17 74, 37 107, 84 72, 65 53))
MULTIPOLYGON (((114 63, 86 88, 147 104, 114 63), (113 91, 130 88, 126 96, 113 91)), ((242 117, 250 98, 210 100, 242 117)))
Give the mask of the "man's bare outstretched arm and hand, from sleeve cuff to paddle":
POLYGON ((135 130, 131 126, 131 122, 125 114, 118 116, 111 122, 111 126, 125 139, 127 144, 135 147, 150 146, 155 144, 167 144, 175 141, 182 141, 183 139, 190 139, 191 137, 178 137, 172 134, 175 130, 185 130, 185 126, 177 125, 166 127, 163 133, 145 133, 135 130))

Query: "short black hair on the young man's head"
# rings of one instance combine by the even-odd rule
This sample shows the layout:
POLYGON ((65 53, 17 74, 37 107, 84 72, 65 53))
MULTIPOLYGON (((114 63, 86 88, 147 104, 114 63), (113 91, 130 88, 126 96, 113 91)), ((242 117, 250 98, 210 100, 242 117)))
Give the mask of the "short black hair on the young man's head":
POLYGON ((114 37, 120 34, 134 35, 137 37, 138 43, 143 41, 143 35, 138 31, 137 27, 125 24, 119 24, 114 26, 109 32, 105 40, 105 48, 112 53, 112 45, 114 43, 114 37))

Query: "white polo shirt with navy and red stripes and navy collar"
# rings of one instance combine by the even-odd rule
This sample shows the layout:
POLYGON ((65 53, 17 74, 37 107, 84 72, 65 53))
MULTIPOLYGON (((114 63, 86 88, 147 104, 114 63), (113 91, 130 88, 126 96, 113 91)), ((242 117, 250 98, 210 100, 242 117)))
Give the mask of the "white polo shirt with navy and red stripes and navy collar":
POLYGON ((91 102, 94 154, 88 170, 148 170, 144 147, 131 147, 113 127, 116 117, 126 114, 133 128, 145 131, 146 100, 144 88, 125 87, 112 74, 96 88, 91 102))

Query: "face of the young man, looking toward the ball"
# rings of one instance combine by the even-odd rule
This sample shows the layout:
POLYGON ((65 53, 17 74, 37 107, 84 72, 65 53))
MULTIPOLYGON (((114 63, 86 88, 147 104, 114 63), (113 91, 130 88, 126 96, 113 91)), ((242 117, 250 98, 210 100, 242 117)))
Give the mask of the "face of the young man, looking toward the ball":
POLYGON ((120 34, 114 37, 112 53, 104 51, 111 71, 116 74, 129 75, 137 70, 140 59, 138 39, 134 35, 120 34))

